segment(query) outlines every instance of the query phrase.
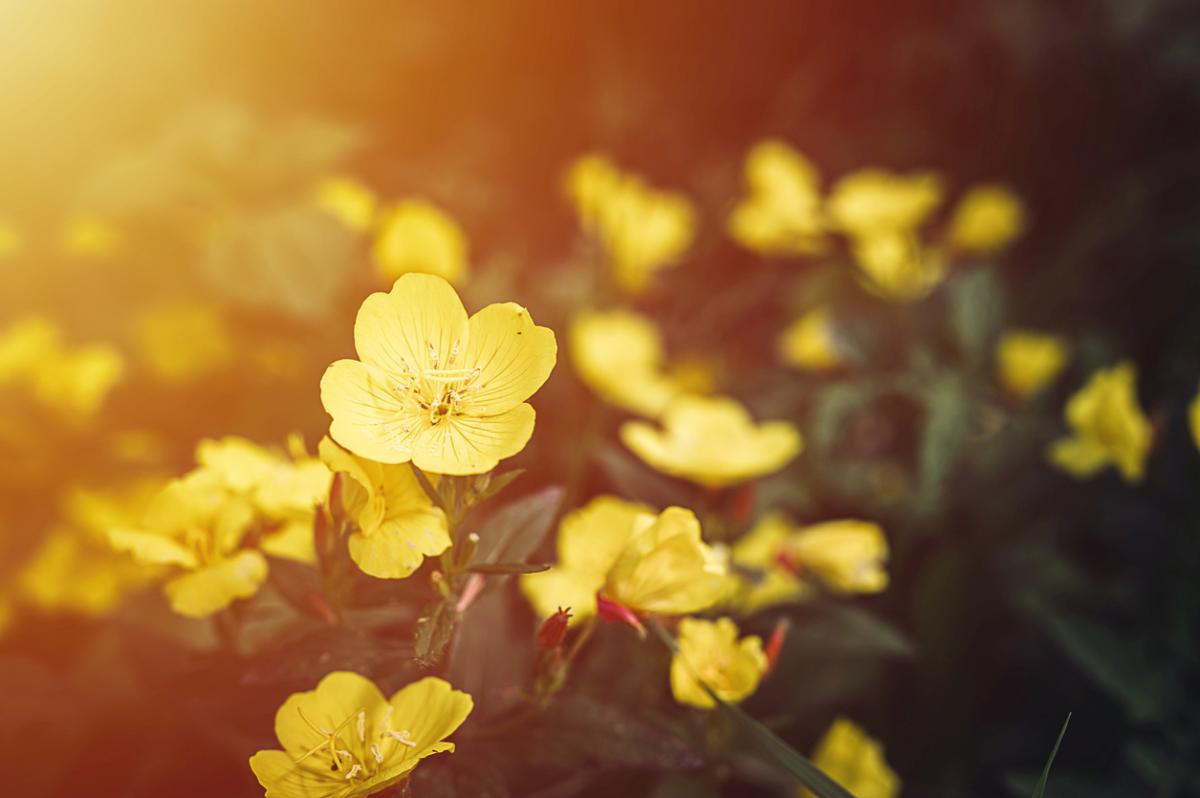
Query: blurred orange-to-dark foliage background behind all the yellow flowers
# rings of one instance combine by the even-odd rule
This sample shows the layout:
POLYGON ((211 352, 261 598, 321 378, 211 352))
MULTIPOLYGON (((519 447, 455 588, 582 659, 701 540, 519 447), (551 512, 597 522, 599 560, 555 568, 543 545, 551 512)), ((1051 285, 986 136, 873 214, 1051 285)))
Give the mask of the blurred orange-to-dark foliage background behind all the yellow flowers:
MULTIPOLYGON (((66 350, 100 343, 122 364, 95 412, 0 391, 12 794, 258 794, 245 758, 288 691, 338 667, 385 690, 416 673, 416 578, 361 589, 355 623, 326 626, 287 610, 307 576, 272 562, 232 658, 154 592, 74 606, 22 575, 64 523, 95 518, 72 515, 78 491, 182 473, 204 437, 316 445, 320 373, 380 286, 364 241, 312 200, 330 175, 446 209, 469 239, 468 307, 515 299, 565 343, 569 313, 601 304, 562 190, 587 151, 698 205, 691 253, 640 304, 667 350, 804 431, 754 511, 871 517, 892 541, 887 592, 745 624, 793 623, 746 710, 802 751, 853 716, 910 796, 1028 794, 1072 710, 1048 794, 1200 794, 1196 17, 1183 0, 0 6, 0 320, 54 319, 66 350), (845 258, 764 263, 722 222, 767 137, 826 175, 1002 180, 1028 232, 914 305, 864 293, 845 258), (782 371, 776 336, 818 301, 860 356, 782 371), (992 378, 1009 328, 1073 349, 1027 403, 992 378), (1043 450, 1068 396, 1118 359, 1153 421, 1148 474, 1073 480, 1043 450)), ((619 413, 560 354, 503 499, 526 504, 491 521, 520 521, 511 545, 548 552, 556 514, 601 491, 707 500, 620 446, 619 413)), ((479 726, 418 770, 416 794, 782 794, 714 749, 721 730, 662 709, 666 652, 620 631, 505 734, 533 618, 510 588, 486 593, 445 662, 479 726)))

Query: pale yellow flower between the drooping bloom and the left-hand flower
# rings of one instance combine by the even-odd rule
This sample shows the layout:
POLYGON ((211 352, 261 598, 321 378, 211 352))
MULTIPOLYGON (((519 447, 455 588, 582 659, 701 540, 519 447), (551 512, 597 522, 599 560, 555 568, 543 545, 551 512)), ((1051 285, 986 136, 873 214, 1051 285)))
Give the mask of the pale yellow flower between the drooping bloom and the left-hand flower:
POLYGON ((290 456, 229 436, 202 440, 196 462, 208 469, 229 493, 250 502, 264 527, 260 548, 268 554, 312 563, 313 517, 317 505, 329 496, 332 474, 305 451, 293 436, 290 456))

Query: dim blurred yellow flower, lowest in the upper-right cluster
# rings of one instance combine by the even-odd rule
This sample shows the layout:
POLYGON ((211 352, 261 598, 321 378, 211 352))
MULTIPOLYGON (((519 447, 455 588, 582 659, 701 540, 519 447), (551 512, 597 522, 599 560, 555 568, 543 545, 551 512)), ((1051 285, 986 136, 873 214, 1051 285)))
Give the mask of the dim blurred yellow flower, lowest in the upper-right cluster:
POLYGON ((852 241, 851 251, 863 288, 893 302, 924 299, 946 280, 949 269, 943 252, 923 246, 910 233, 860 236, 852 241))

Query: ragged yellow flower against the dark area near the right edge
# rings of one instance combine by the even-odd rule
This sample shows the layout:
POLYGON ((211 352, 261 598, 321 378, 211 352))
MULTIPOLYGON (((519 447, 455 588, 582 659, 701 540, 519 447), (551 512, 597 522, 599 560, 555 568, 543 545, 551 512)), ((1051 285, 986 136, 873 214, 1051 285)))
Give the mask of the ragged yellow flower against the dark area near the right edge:
POLYGON ((1129 361, 1103 368, 1067 402, 1073 434, 1051 444, 1050 461, 1073 476, 1116 466, 1127 482, 1141 481, 1152 430, 1138 404, 1136 371, 1129 361))

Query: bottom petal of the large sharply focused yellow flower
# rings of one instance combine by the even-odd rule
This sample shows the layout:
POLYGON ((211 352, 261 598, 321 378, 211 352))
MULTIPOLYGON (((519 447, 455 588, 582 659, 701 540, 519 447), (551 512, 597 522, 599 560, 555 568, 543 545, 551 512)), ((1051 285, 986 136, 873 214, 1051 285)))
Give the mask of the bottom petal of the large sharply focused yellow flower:
POLYGON ((524 449, 534 415, 532 406, 517 404, 499 415, 446 416, 420 432, 413 462, 434 474, 482 474, 524 449))

